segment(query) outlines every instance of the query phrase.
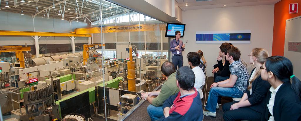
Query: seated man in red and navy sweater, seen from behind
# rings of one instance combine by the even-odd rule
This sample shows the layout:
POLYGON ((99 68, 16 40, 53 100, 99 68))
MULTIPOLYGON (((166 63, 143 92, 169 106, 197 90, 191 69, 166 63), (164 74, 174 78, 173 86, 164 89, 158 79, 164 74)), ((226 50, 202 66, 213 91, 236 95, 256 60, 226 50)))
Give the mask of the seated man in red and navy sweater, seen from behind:
POLYGON ((193 71, 185 66, 178 69, 176 73, 176 84, 180 92, 170 96, 164 102, 164 116, 160 120, 202 121, 202 101, 197 89, 194 88, 195 76, 193 71))

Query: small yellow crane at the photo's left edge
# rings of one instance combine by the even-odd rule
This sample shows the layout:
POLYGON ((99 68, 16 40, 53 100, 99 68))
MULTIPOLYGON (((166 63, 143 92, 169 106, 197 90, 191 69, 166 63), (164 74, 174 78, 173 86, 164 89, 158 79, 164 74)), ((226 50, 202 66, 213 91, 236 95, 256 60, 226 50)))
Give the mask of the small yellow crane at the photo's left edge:
POLYGON ((30 51, 30 47, 22 47, 21 45, 17 46, 0 46, 1 52, 16 52, 16 59, 20 62, 20 67, 25 68, 25 60, 23 51, 30 51))

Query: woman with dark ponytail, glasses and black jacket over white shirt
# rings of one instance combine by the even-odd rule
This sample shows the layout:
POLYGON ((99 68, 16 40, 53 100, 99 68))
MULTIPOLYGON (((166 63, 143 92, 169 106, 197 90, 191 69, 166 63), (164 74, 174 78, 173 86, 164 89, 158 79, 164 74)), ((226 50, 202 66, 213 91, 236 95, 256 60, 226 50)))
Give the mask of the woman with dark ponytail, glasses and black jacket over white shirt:
POLYGON ((272 56, 260 68, 261 78, 272 85, 266 97, 262 120, 300 121, 301 82, 293 74, 292 62, 286 57, 272 56))

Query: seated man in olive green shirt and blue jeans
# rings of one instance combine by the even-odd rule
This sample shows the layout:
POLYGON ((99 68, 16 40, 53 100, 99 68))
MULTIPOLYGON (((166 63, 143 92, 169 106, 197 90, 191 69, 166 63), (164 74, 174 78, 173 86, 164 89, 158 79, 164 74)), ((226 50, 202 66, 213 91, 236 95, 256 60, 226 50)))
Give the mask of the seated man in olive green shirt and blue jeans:
POLYGON ((167 80, 162 85, 161 90, 141 93, 141 98, 150 103, 150 105, 147 107, 147 113, 151 117, 152 121, 164 116, 162 104, 169 96, 175 95, 177 92, 179 92, 175 79, 175 66, 172 64, 172 62, 165 61, 161 66, 161 71, 163 75, 166 76, 167 80), (153 98, 151 96, 157 97, 153 98))

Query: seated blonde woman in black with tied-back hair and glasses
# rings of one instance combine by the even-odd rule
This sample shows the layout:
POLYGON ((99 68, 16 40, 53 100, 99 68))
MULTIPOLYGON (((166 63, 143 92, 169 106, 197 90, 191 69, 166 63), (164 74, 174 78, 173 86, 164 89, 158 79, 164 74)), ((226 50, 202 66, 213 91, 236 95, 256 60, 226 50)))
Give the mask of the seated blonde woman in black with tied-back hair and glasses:
POLYGON ((271 85, 261 79, 260 67, 268 57, 268 51, 263 48, 254 48, 249 54, 250 64, 256 68, 252 70, 249 86, 240 101, 234 101, 223 105, 224 120, 260 120, 265 107, 264 98, 271 85), (244 113, 241 113, 244 112, 244 113))

